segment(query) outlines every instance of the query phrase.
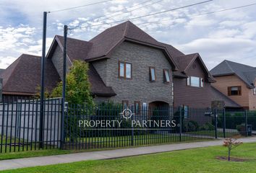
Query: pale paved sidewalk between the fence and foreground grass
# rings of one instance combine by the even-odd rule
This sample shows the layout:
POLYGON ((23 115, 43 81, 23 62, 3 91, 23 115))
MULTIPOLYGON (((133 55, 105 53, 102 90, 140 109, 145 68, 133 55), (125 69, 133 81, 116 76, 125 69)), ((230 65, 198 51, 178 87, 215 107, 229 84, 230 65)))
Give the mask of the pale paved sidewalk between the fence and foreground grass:
MULTIPOLYGON (((256 142, 256 137, 242 138, 244 143, 256 142)), ((62 154, 56 156, 39 156, 25 159, 11 159, 0 161, 0 170, 5 169, 17 169, 24 167, 36 167, 50 164, 64 164, 74 161, 86 161, 86 160, 99 160, 99 159, 114 159, 126 156, 138 156, 142 154, 155 154, 166 151, 176 151, 189 148, 199 148, 206 146, 220 146, 223 140, 218 141, 202 141, 193 143, 176 143, 166 144, 161 146, 144 146, 137 148, 122 148, 107 151, 90 151, 77 154, 62 154)))

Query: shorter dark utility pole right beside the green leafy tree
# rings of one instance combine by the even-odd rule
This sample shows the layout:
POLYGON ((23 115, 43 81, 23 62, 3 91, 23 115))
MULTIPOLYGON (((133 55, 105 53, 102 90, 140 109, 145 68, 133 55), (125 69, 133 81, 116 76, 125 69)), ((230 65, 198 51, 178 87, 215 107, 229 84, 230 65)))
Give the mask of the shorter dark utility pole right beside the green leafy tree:
POLYGON ((67 72, 67 25, 64 25, 64 45, 63 45, 63 71, 62 71, 62 109, 61 109, 61 148, 64 144, 64 116, 65 116, 65 91, 66 91, 66 72, 67 72))

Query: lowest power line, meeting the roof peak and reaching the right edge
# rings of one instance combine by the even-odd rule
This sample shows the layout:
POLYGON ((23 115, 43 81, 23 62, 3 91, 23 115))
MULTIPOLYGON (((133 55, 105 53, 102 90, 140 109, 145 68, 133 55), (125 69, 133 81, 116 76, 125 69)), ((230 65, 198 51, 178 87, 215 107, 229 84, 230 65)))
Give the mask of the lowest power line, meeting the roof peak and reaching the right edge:
MULTIPOLYGON (((232 7, 232 8, 229 8, 229 9, 221 9, 221 10, 218 10, 218 11, 215 11, 215 12, 206 12, 206 13, 201 13, 201 14, 196 14, 196 15, 191 15, 191 16, 187 16, 187 17, 179 17, 179 18, 176 18, 176 19, 165 19, 165 20, 161 20, 161 21, 153 21, 153 22, 141 22, 141 23, 135 23, 135 25, 144 25, 144 24, 151 24, 151 23, 159 23, 159 22, 164 22, 164 21, 175 21, 177 19, 187 19, 189 17, 199 17, 199 16, 204 16, 204 15, 208 15, 208 14, 215 14, 215 13, 219 13, 219 12, 226 12, 226 11, 230 11, 230 10, 233 10, 233 9, 242 9, 244 7, 248 7, 248 6, 254 6, 256 5, 256 3, 254 4, 248 4, 248 5, 244 5, 244 6, 236 6, 236 7, 232 7)), ((127 20, 127 19, 125 19, 127 20)), ((112 24, 112 23, 116 23, 116 22, 122 22, 124 21, 123 19, 122 20, 119 20, 119 21, 115 21, 115 22, 109 22, 109 23, 104 23, 104 24, 100 24, 100 25, 109 25, 109 24, 112 24)), ((80 27, 80 28, 90 28, 90 27, 96 27, 96 26, 100 26, 100 25, 89 25, 89 26, 84 26, 84 27, 80 27)), ((71 28, 70 30, 75 30, 77 28, 71 28)))

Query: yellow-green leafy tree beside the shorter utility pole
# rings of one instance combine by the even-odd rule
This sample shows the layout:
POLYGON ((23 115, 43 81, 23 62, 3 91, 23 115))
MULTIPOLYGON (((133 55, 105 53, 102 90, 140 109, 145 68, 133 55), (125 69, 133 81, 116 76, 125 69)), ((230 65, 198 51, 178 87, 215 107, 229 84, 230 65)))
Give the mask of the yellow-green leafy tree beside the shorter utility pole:
MULTIPOLYGON (((88 63, 85 61, 73 61, 66 79, 66 101, 72 104, 94 105, 90 94, 90 81, 88 77, 88 63)), ((62 81, 51 92, 51 97, 61 97, 62 81)))

